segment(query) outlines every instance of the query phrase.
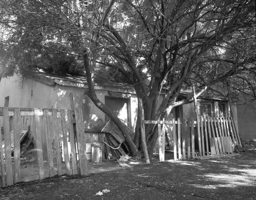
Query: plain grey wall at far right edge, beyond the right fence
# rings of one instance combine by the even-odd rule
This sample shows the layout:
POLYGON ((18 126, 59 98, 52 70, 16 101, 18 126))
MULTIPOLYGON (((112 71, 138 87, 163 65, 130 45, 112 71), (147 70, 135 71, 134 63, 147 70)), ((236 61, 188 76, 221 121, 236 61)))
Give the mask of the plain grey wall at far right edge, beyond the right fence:
POLYGON ((256 139, 256 101, 237 105, 237 121, 242 140, 256 139))

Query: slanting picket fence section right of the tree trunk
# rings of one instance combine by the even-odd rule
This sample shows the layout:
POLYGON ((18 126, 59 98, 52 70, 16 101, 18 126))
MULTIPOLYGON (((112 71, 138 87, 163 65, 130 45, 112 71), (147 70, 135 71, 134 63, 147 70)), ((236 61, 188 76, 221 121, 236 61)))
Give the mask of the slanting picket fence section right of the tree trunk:
POLYGON ((231 117, 201 117, 197 120, 178 118, 177 121, 173 118, 171 121, 159 119, 143 122, 144 125, 157 124, 158 126, 160 161, 165 160, 166 141, 169 147, 173 148, 174 161, 209 154, 231 153, 232 142, 242 146, 237 127, 231 117), (195 148, 199 151, 198 153, 195 148))

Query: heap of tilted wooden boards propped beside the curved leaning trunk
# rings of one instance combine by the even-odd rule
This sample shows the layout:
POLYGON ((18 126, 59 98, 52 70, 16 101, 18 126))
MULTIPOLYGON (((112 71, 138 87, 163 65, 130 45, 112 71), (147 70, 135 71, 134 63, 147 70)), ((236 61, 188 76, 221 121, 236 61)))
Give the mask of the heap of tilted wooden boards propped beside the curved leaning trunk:
POLYGON ((104 137, 104 146, 107 160, 119 159, 121 156, 127 155, 128 146, 123 134, 114 122, 109 120, 101 131, 106 133, 106 136, 104 137))

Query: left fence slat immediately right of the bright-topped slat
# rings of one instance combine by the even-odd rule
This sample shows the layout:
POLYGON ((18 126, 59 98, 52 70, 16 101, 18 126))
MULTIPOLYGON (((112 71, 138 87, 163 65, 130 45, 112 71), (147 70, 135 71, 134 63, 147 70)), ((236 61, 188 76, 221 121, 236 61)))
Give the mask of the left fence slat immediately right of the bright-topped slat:
POLYGON ((49 177, 54 176, 54 165, 53 165, 53 152, 52 152, 52 140, 51 140, 51 132, 50 132, 50 118, 48 109, 44 109, 44 133, 46 138, 46 148, 47 148, 47 157, 49 164, 49 177))

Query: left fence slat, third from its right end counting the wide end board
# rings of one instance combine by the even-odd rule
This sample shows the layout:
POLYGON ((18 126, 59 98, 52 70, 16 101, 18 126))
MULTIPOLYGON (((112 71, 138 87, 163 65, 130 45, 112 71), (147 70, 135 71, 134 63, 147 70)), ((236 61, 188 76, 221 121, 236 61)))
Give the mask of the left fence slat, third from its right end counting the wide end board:
POLYGON ((60 119, 61 119, 61 128, 63 133, 63 151, 65 158, 65 165, 67 174, 70 175, 70 164, 69 164, 69 153, 68 153, 68 136, 67 136, 67 128, 66 128, 66 118, 65 118, 65 110, 60 110, 60 119))

